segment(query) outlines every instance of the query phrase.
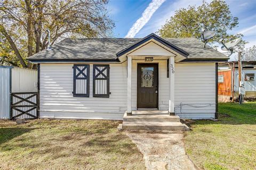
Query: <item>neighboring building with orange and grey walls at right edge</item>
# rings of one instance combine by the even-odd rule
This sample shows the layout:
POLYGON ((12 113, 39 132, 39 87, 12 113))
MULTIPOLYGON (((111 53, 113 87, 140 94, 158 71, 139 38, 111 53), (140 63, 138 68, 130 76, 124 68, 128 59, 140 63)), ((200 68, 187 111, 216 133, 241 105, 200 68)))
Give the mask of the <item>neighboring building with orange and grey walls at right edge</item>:
MULTIPOLYGON (((219 64, 218 94, 220 101, 230 101, 238 98, 238 62, 219 64), (233 67, 235 70, 233 71, 233 67), (234 80, 233 80, 234 78, 234 80), (234 84, 234 86, 233 86, 234 84), (233 90, 234 89, 234 90, 233 90)), ((245 88, 245 98, 256 98, 256 61, 242 62, 242 82, 245 88)))

